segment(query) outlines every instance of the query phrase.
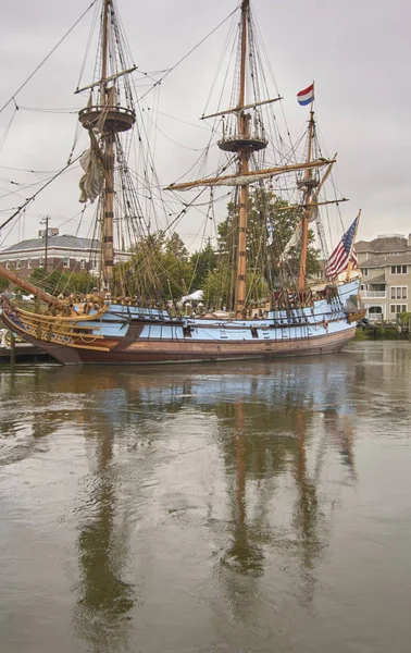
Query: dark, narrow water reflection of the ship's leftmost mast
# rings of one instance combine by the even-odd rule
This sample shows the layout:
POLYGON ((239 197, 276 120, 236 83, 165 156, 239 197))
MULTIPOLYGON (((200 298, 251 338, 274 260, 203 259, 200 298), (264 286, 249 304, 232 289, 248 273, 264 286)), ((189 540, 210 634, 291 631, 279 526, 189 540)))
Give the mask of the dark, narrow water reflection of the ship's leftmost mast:
MULTIPOLYGON (((96 415, 95 415, 96 416, 96 415)), ((80 579, 74 627, 96 653, 125 650, 127 616, 136 601, 126 580, 128 526, 119 520, 119 479, 113 457, 113 428, 104 415, 96 424, 90 447, 95 470, 86 479, 86 496, 78 507, 77 538, 80 579)))

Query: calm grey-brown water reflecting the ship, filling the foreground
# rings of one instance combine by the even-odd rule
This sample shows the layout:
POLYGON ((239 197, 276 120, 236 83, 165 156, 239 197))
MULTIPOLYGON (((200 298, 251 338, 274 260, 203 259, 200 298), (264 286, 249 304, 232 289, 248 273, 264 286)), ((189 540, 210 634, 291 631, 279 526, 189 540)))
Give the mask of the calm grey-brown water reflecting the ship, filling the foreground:
POLYGON ((1 653, 407 653, 411 343, 0 368, 1 653))

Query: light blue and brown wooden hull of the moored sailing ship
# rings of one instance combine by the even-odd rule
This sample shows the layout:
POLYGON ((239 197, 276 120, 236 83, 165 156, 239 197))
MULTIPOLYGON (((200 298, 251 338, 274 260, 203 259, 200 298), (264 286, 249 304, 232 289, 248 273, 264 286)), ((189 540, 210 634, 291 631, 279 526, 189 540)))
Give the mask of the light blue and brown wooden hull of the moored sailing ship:
POLYGON ((111 304, 103 311, 71 317, 28 312, 3 303, 3 322, 63 365, 217 362, 327 354, 356 333, 361 310, 358 280, 338 296, 312 306, 273 310, 265 317, 227 313, 173 318, 159 309, 111 304))

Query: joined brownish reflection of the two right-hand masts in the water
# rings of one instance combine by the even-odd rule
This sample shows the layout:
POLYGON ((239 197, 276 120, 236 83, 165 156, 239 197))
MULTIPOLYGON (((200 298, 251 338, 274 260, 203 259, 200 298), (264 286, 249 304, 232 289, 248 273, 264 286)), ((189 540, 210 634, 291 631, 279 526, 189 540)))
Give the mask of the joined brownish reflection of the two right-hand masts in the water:
MULTIPOLYGON (((221 418, 229 514, 217 576, 235 617, 244 619, 259 601, 267 557, 281 556, 290 578, 296 569, 294 593, 301 604, 311 604, 336 504, 327 493, 325 463, 336 473, 342 464, 351 479, 356 472, 354 428, 349 415, 339 415, 338 397, 333 404, 326 390, 310 393, 303 379, 299 383, 288 371, 274 384, 264 375, 238 378, 238 383, 241 398, 220 401, 209 409, 221 418)), ((325 369, 319 386, 329 385, 325 369)))

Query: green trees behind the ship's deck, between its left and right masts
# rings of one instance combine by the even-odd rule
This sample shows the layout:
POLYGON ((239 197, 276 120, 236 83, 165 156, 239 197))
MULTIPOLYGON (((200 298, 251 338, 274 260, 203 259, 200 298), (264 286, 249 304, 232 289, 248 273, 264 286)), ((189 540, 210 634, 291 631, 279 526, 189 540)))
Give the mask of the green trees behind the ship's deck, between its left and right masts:
MULTIPOLYGON (((196 289, 204 292, 208 306, 233 308, 237 269, 238 205, 228 205, 228 215, 219 225, 217 248, 209 239, 201 250, 189 255, 177 233, 163 232, 141 238, 129 261, 115 266, 114 293, 151 298, 177 299, 196 289)), ((299 271, 299 248, 289 251, 286 266, 279 257, 301 219, 301 210, 290 208, 273 192, 250 194, 247 225, 247 303, 270 297, 270 289, 282 282, 292 283, 299 271), (267 244, 267 219, 274 241, 267 244), (281 278, 281 279, 279 279, 281 278), (288 280, 288 281, 287 281, 288 280)), ((310 232, 307 273, 319 268, 319 251, 310 232)))

